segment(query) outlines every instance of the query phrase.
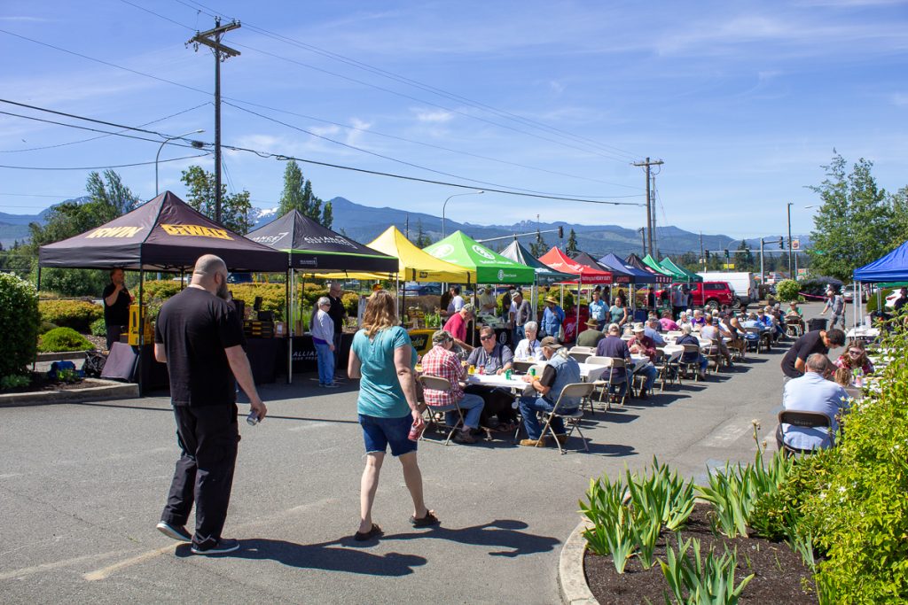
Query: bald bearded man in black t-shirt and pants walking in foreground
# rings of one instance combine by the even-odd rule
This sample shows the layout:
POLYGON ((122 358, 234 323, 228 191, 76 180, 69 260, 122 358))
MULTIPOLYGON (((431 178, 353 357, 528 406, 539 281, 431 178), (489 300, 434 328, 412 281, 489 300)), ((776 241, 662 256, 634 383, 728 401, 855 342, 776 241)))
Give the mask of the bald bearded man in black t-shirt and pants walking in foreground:
POLYGON ((206 254, 195 263, 192 283, 164 303, 154 330, 154 357, 166 363, 170 373, 182 450, 157 529, 174 540, 192 542, 193 554, 240 548, 240 542, 221 536, 240 441, 234 377, 259 420, 268 413, 242 350, 242 325, 226 297, 227 267, 206 254), (184 525, 193 500, 191 536, 184 525))

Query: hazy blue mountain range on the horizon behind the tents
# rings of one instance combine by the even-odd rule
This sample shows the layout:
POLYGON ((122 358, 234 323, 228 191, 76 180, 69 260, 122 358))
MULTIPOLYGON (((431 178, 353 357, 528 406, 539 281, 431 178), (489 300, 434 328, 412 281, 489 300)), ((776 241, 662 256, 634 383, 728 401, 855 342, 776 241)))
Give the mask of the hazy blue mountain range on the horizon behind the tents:
MULTIPOLYGON (((84 199, 79 198, 76 201, 81 200, 84 199)), ((334 215, 332 229, 363 243, 368 243, 375 239, 390 225, 394 225, 404 232, 409 229, 410 239, 416 239, 420 228, 433 241, 441 239, 440 217, 424 212, 364 206, 341 197, 331 200, 331 208, 334 215)), ((15 240, 23 241, 28 239, 28 224, 31 222, 43 224, 49 210, 51 209, 45 209, 37 214, 7 214, 0 212, 0 244, 8 247, 15 240)), ((253 220, 254 227, 258 228, 277 218, 276 213, 276 208, 253 208, 250 218, 253 220)), ((640 233, 637 229, 627 229, 619 225, 578 225, 566 221, 537 223, 529 220, 511 225, 479 225, 446 219, 444 231, 446 234, 450 234, 459 229, 473 239, 505 238, 489 242, 489 248, 498 250, 503 249, 512 241, 512 238, 508 236, 528 233, 529 235, 519 238, 521 243, 528 246, 535 241, 537 229, 546 231, 558 229, 559 227, 563 228, 565 239, 558 239, 558 233, 544 233, 542 237, 549 246, 558 245, 564 247, 570 230, 574 229, 577 234, 577 247, 588 252, 594 258, 599 258, 608 252, 614 252, 618 256, 624 257, 631 252, 640 254, 642 250, 640 233)), ((777 238, 779 235, 781 234, 766 234, 764 237, 777 238)), ((738 244, 740 244, 740 239, 733 239, 721 234, 705 233, 702 238, 703 248, 713 253, 720 252, 726 248, 737 249, 738 244)), ((699 254, 701 248, 700 239, 699 233, 693 233, 685 229, 678 229, 673 226, 656 227, 656 248, 660 250, 662 256, 677 256, 685 252, 699 254)), ((802 249, 809 246, 806 236, 795 236, 795 239, 800 239, 802 249)), ((751 249, 760 248, 760 239, 758 238, 746 239, 745 241, 751 249)), ((770 247, 767 244, 767 249, 769 248, 777 247, 770 247)))

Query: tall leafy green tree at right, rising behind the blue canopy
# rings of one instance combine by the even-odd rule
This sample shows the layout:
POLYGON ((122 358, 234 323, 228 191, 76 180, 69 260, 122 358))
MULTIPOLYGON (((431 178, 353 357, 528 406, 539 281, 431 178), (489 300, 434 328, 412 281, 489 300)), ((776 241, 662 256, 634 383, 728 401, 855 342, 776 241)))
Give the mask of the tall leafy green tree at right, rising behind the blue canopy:
POLYGON ((816 273, 847 280, 855 268, 889 251, 893 210, 873 179, 872 161, 858 160, 847 174, 844 158, 835 152, 823 168, 826 179, 810 188, 823 205, 814 216, 809 254, 816 273))

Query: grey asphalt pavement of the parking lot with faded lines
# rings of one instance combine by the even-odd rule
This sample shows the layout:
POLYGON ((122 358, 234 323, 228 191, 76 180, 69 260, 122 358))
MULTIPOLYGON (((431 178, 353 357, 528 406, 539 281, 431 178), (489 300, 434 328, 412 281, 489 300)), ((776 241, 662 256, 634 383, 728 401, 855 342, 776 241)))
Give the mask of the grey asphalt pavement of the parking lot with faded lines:
POLYGON ((590 477, 656 455, 704 481, 709 466, 753 459, 752 419, 775 449, 788 345, 598 412, 583 424, 589 454, 420 443, 434 529, 410 527, 389 455, 378 542, 351 537, 364 461, 355 383, 266 385, 269 417, 240 424, 225 535, 242 548, 217 558, 154 529, 178 454, 167 398, 0 409, 0 602, 557 603, 558 552, 590 477))

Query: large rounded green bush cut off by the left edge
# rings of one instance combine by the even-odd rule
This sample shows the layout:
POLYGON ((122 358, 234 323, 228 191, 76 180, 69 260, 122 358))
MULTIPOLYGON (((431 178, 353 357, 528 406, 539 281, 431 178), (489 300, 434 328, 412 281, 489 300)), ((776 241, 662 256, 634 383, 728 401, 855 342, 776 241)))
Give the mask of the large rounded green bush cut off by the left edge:
POLYGON ((0 273, 0 377, 22 374, 35 360, 41 317, 38 293, 31 283, 0 273))

